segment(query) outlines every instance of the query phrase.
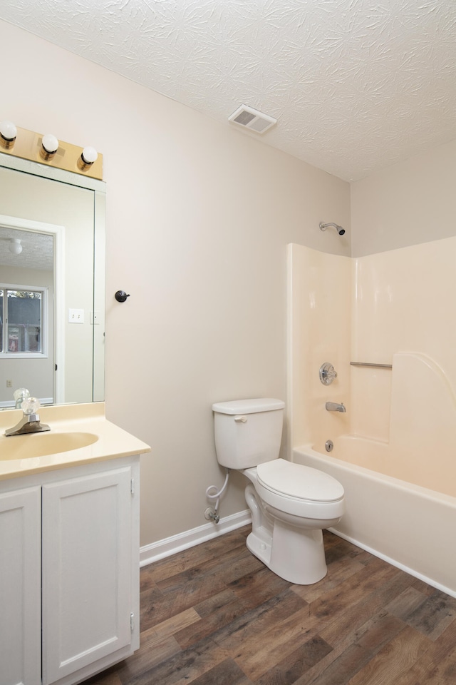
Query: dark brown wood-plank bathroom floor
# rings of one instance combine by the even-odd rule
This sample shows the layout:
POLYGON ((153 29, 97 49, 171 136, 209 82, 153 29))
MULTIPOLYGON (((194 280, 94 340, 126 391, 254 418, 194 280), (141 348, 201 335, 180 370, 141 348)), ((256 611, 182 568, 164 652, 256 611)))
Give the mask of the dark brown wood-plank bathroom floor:
POLYGON ((329 532, 327 576, 294 585, 248 533, 142 568, 140 649, 86 684, 456 685, 456 599, 329 532))

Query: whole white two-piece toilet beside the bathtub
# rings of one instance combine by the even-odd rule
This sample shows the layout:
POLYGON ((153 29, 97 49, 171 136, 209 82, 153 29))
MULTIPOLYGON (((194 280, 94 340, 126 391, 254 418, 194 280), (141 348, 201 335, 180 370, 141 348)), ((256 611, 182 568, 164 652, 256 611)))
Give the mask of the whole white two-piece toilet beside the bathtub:
POLYGON ((212 405, 217 461, 249 479, 247 547, 285 580, 310 585, 326 576, 323 528, 343 514, 343 487, 332 476, 279 458, 284 402, 272 398, 212 405))

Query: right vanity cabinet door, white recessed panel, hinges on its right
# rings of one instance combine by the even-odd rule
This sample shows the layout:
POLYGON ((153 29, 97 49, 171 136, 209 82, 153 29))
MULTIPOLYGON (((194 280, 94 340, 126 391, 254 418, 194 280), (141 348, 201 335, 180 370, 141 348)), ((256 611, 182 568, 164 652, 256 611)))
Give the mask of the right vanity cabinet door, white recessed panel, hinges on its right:
POLYGON ((130 478, 43 486, 43 685, 130 643, 130 478))

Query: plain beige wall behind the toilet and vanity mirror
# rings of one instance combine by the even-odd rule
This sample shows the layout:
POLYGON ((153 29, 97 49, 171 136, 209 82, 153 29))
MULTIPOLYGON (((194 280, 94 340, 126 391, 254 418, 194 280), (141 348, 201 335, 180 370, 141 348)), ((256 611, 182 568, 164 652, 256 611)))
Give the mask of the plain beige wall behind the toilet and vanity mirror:
MULTIPOLYGON (((2 22, 0 45, 1 116, 104 155, 106 406, 152 446, 141 544, 202 525, 223 476, 212 402, 286 397, 286 244, 349 255, 348 184, 2 22)), ((234 477, 222 516, 243 489, 234 477)))

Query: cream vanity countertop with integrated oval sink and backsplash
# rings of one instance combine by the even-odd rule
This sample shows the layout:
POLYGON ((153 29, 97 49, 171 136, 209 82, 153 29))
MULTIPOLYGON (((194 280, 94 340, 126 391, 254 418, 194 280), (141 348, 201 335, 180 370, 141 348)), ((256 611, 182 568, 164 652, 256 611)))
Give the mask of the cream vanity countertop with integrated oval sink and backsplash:
POLYGON ((145 442, 106 420, 104 402, 41 407, 39 416, 50 431, 6 437, 5 430, 21 420, 22 412, 0 412, 0 480, 150 452, 145 442), (65 442, 69 434, 90 437, 93 442, 64 452, 55 452, 54 447, 52 454, 42 454, 46 452, 43 445, 58 443, 58 437, 65 442), (46 436, 51 435, 55 437, 50 441, 46 436), (24 446, 30 447, 33 456, 23 456, 24 446))

